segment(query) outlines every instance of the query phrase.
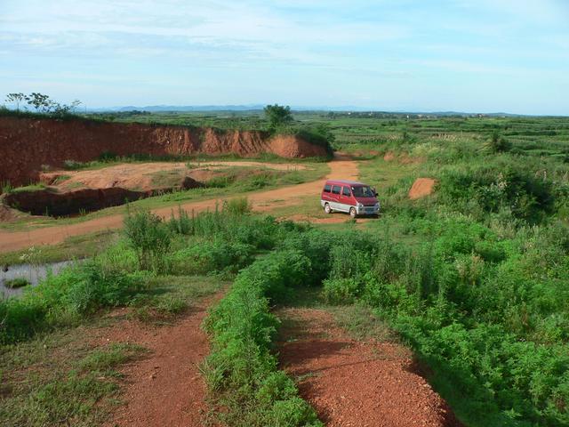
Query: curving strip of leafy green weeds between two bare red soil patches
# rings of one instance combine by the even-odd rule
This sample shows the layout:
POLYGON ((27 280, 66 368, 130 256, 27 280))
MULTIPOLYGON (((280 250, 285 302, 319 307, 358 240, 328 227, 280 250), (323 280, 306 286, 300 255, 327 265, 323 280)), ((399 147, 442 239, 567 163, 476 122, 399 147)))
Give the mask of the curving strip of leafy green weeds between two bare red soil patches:
POLYGON ((309 265, 299 253, 269 254, 237 276, 207 318, 212 353, 204 362, 204 377, 215 404, 228 408, 218 413, 225 423, 323 425, 270 352, 278 320, 269 302, 300 286, 308 278, 309 265))

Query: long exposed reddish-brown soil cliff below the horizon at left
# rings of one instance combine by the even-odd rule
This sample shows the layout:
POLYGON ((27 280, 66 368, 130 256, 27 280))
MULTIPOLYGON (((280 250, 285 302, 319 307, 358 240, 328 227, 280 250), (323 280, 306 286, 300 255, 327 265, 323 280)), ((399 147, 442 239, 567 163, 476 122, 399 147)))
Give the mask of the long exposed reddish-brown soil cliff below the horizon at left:
POLYGON ((68 159, 86 162, 103 152, 117 156, 326 155, 323 147, 291 135, 271 138, 268 133, 254 131, 221 132, 183 126, 0 117, 0 182, 27 184, 37 181, 42 165, 59 167, 68 159))

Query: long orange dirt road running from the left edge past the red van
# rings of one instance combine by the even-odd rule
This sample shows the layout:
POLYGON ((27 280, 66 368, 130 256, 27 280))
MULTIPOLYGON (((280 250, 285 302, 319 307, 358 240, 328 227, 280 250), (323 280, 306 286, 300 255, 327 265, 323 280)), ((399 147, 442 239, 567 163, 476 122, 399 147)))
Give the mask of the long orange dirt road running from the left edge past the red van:
MULTIPOLYGON (((329 163, 330 173, 326 178, 342 178, 347 180, 357 179, 357 163, 346 157, 338 157, 329 163)), ((295 205, 300 203, 300 197, 314 195, 317 197, 324 185, 325 180, 305 182, 299 185, 283 187, 280 189, 270 189, 257 193, 247 194, 253 209, 259 212, 267 212, 277 207, 295 205)), ((238 195, 236 195, 238 196, 238 195)), ((181 205, 183 209, 195 210, 197 212, 206 209, 214 209, 220 199, 208 199, 197 202, 189 202, 181 205)), ((172 214, 172 206, 166 206, 154 210, 153 212, 169 217, 172 214)), ((42 229, 26 231, 7 231, 0 230, 0 253, 15 251, 34 245, 54 245, 62 242, 68 237, 92 233, 99 230, 119 229, 123 226, 123 215, 116 214, 96 218, 91 221, 78 222, 76 224, 55 225, 42 229)))

